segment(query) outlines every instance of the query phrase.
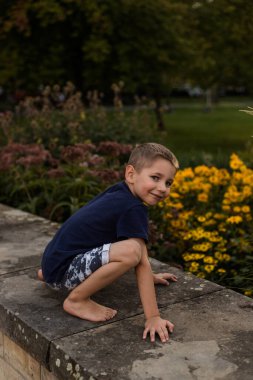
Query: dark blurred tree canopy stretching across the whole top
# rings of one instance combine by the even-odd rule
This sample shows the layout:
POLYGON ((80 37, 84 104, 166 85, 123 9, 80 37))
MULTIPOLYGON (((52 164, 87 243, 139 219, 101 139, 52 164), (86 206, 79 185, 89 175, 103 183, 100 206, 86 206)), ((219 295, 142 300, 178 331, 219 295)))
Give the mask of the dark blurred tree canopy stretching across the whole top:
POLYGON ((252 16, 248 0, 2 0, 0 85, 252 90, 252 16))

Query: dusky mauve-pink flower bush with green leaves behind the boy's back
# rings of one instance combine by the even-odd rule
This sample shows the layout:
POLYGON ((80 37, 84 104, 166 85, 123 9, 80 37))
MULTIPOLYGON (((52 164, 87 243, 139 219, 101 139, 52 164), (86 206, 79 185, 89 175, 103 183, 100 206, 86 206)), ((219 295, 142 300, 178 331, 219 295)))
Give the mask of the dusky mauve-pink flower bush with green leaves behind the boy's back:
POLYGON ((0 202, 63 222, 123 178, 120 167, 132 146, 113 141, 61 147, 54 156, 42 145, 0 148, 0 202))

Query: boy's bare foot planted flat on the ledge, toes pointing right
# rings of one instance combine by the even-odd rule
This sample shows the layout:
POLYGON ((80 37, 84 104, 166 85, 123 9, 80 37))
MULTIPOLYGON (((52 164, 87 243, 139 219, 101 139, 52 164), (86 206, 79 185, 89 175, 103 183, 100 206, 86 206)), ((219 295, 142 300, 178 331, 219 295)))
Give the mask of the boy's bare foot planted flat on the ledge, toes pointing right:
POLYGON ((117 314, 116 310, 99 305, 90 298, 81 302, 73 302, 69 298, 66 298, 63 303, 63 309, 75 317, 92 322, 107 321, 117 314))

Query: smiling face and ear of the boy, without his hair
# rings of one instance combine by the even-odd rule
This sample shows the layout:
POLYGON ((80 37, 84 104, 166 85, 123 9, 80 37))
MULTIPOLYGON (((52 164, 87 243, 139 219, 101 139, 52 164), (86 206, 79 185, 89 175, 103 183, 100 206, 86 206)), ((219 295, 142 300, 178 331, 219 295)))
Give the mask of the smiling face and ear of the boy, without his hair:
POLYGON ((164 158, 157 158, 151 166, 137 172, 132 165, 126 167, 126 181, 134 196, 150 206, 164 200, 176 173, 174 166, 164 158))

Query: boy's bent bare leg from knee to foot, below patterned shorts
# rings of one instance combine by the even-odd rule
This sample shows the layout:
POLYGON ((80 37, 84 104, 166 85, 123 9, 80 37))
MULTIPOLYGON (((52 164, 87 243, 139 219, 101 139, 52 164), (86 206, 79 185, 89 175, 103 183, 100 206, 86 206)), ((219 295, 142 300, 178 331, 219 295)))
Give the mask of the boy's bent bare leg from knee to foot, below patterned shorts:
POLYGON ((70 292, 64 301, 64 310, 76 317, 94 322, 113 318, 116 310, 99 305, 92 301, 90 296, 138 265, 143 245, 141 239, 128 239, 111 244, 109 263, 100 267, 70 292))

